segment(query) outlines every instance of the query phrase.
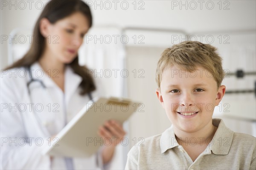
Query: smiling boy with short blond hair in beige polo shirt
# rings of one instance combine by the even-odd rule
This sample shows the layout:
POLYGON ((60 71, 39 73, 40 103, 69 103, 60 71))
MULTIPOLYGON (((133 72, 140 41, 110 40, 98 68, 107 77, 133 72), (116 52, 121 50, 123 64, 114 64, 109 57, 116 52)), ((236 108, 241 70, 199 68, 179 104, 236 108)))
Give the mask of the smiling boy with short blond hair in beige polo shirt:
POLYGON ((125 169, 255 170, 256 138, 212 119, 225 93, 223 78, 215 47, 186 41, 166 49, 157 64, 156 92, 172 127, 133 147, 125 169))

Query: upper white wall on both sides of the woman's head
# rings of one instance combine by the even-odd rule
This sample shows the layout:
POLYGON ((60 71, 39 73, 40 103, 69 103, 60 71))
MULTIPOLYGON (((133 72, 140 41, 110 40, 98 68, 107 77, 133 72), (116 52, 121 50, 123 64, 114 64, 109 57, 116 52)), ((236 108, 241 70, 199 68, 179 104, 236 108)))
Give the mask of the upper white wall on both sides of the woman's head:
MULTIPOLYGON (((41 5, 46 4, 48 0, 20 2, 1 0, 1 36, 9 35, 12 29, 17 27, 32 29, 42 11, 41 5), (11 5, 15 3, 16 5, 11 5)), ((180 3, 181 1, 175 0, 142 0, 135 2, 136 7, 134 2, 87 1, 93 12, 94 26, 181 29, 189 33, 221 30, 230 32, 230 30, 254 30, 256 28, 256 2, 254 0, 230 0, 225 3, 221 1, 221 10, 217 0, 203 3, 200 1, 182 1, 180 3), (125 10, 127 3, 128 9, 125 10), (187 5, 181 6, 181 4, 187 5), (213 9, 211 9, 212 4, 214 5, 213 9)), ((1 42, 1 68, 7 65, 7 44, 8 41, 1 42)))

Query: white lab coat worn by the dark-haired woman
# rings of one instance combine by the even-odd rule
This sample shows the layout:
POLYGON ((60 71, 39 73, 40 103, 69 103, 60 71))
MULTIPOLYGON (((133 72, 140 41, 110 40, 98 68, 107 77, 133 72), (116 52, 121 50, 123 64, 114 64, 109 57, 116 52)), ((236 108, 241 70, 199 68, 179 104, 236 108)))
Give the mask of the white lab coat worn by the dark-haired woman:
MULTIPOLYGON (((89 97, 79 95, 82 79, 69 66, 65 70, 64 92, 42 72, 39 63, 34 63, 31 69, 32 77, 40 79, 46 86, 44 88, 34 81, 29 85, 31 95, 27 87, 29 72, 24 76, 25 68, 1 72, 0 167, 66 169, 64 158, 51 160, 42 154, 42 150, 55 142, 50 142, 49 137, 57 134, 65 126, 65 121, 69 122, 84 107, 89 97)), ((99 90, 91 94, 94 98, 99 95, 99 90)), ((100 151, 90 158, 73 158, 74 169, 102 169, 99 155, 100 151)))

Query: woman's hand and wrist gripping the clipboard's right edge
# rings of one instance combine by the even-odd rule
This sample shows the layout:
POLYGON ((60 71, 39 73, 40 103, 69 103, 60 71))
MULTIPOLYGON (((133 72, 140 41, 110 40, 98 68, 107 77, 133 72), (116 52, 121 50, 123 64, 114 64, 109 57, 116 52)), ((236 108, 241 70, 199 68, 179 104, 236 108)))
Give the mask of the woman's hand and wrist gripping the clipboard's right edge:
POLYGON ((103 126, 99 127, 98 135, 102 137, 103 141, 106 141, 107 143, 109 140, 111 140, 109 141, 108 146, 105 145, 105 147, 103 148, 103 164, 111 161, 116 145, 119 144, 120 141, 122 141, 125 134, 126 133, 123 130, 122 126, 114 120, 106 121, 103 126), (109 140, 104 140, 105 138, 108 138, 109 140))

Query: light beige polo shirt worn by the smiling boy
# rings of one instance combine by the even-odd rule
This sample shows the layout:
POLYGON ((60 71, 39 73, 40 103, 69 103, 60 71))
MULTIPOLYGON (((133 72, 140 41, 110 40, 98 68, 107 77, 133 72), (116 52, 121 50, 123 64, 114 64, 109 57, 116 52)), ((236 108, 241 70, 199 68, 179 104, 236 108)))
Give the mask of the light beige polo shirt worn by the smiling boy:
POLYGON ((221 119, 212 119, 212 124, 218 129, 212 140, 209 140, 207 148, 194 162, 177 143, 173 128, 170 127, 160 135, 146 138, 144 146, 132 147, 125 169, 256 170, 256 138, 234 133, 221 119))

